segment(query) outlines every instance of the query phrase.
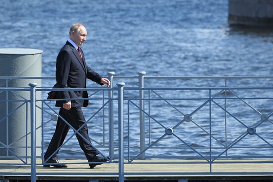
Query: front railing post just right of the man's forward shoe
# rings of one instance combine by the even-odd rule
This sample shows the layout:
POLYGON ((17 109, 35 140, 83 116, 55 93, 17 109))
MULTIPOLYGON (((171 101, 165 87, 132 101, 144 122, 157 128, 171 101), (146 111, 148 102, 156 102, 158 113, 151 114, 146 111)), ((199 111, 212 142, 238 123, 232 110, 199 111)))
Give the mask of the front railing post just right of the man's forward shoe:
POLYGON ((123 86, 124 82, 117 83, 118 86, 118 110, 119 110, 119 182, 124 182, 124 151, 123 151, 123 86))

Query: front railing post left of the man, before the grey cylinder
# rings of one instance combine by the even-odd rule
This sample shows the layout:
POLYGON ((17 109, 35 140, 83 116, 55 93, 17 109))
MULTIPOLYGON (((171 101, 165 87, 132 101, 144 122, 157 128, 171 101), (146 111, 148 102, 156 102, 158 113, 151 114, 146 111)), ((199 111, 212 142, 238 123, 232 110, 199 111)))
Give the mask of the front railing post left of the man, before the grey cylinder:
POLYGON ((31 149, 31 182, 36 182, 36 86, 37 83, 29 83, 30 86, 30 149, 31 149))

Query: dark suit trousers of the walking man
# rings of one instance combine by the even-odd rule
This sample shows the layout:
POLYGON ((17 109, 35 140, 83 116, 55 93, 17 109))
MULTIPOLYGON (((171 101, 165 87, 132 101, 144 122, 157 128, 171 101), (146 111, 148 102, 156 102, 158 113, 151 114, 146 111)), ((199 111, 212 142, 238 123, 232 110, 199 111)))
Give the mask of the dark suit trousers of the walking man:
MULTIPOLYGON (((68 123, 76 130, 78 130, 78 128, 85 123, 85 119, 80 107, 72 107, 70 110, 60 108, 59 115, 62 116, 66 121, 68 121, 68 123)), ((44 156, 45 160, 47 160, 64 143, 69 128, 70 127, 68 126, 68 124, 59 117, 55 133, 44 156)), ((88 135, 87 124, 85 124, 78 132, 91 143, 88 135)), ((88 144, 88 142, 86 142, 81 136, 76 134, 76 137, 79 146, 83 150, 88 161, 91 161, 93 157, 99 154, 98 151, 94 149, 90 144, 88 144)), ((54 154, 51 159, 58 160, 58 152, 54 154)))

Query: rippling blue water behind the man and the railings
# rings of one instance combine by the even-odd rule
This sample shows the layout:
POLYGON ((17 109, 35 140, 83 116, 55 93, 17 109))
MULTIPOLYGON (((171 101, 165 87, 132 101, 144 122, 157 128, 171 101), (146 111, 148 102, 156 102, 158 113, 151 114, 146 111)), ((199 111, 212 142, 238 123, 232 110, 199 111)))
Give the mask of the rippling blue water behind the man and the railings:
MULTIPOLYGON (((33 48, 43 50, 42 75, 55 75, 55 62, 60 48, 68 39, 69 27, 79 22, 87 29, 87 41, 82 46, 87 64, 106 76, 108 71, 116 75, 137 75, 146 71, 147 76, 213 76, 213 75, 272 75, 273 33, 271 30, 257 28, 229 27, 227 24, 227 0, 0 0, 0 47, 33 48)), ((121 80, 126 81, 126 80, 121 80)), ((134 86, 134 81, 127 85, 134 86)), ((47 82, 52 86, 54 80, 47 82)), ((150 81, 149 86, 223 86, 223 82, 205 81, 150 81)), ((230 81, 230 85, 272 86, 272 80, 230 81)), ((88 82, 88 86, 97 86, 88 82)), ((131 94, 131 93, 129 93, 131 94)), ((145 93, 147 94, 147 93, 145 93)), ((203 91, 159 92, 166 97, 207 97, 203 91)), ((243 96, 272 96, 270 91, 240 92, 243 96)), ((136 95, 136 93, 132 93, 136 95)), ((156 98, 155 95, 151 97, 156 98)), ((173 105, 189 114, 205 101, 173 101, 173 105)), ((272 102, 248 101, 262 113, 273 111, 272 102)), ((137 101, 136 101, 137 103, 137 101)), ((52 104, 52 103, 51 103, 52 104)), ((223 101, 219 101, 223 106, 223 101)), ((89 118, 102 103, 93 101, 84 111, 89 118), (97 103, 97 104, 96 104, 97 103)), ((138 146, 137 108, 130 106, 130 143, 138 146)), ((148 108, 148 104, 145 104, 148 108)), ((166 126, 174 126, 183 119, 166 105, 164 101, 151 103, 151 116, 166 126)), ((259 114, 238 101, 227 104, 230 112, 247 125, 259 121, 259 114)), ((220 142, 224 137, 224 112, 214 105, 212 119, 215 127, 212 132, 220 142)), ((105 111, 107 115, 108 111, 105 111)), ((97 141, 102 139, 102 113, 88 123, 90 135, 97 141)), ((116 116, 115 116, 116 117, 116 116)), ((194 115, 194 120, 209 130, 208 106, 194 115)), ((49 118, 48 116, 45 118, 49 118)), ((127 117, 125 117, 127 120, 127 117)), ((148 117, 146 117, 148 121, 148 117)), ((230 143, 246 128, 228 116, 228 136, 230 143)), ((106 129, 107 121, 106 122, 106 129)), ((151 142, 164 134, 164 129, 151 121, 151 142)), ((53 132, 54 122, 45 125, 45 145, 53 132)), ((116 121, 115 121, 116 124, 116 121)), ((261 124, 261 134, 272 141, 272 124, 261 124)), ((127 123, 126 123, 127 127, 127 123)), ((146 133, 148 125, 146 124, 146 133)), ((117 132, 117 130, 115 130, 117 132)), ((127 129, 126 129, 127 132, 127 129)), ((193 147, 208 146, 208 135, 193 122, 183 123, 176 133, 193 147)), ((72 134, 72 132, 70 132, 72 134)), ((148 136, 148 134, 146 134, 148 136)), ((116 136, 116 135, 115 135, 116 136)), ((249 136, 247 136, 249 137, 249 136)), ((126 134, 126 139, 128 138, 126 134)), ((108 136, 106 133, 106 143, 108 136)), ((75 137, 70 141, 73 147, 63 150, 62 155, 82 155, 75 137), (69 149, 71 148, 71 149, 69 149), (75 154, 76 153, 76 154, 75 154)), ((146 139, 148 143, 149 140, 146 139)), ((255 138, 242 140, 242 145, 262 143, 255 138)), ((218 147, 219 143, 215 143, 218 147)), ((157 147, 185 146, 173 136, 160 141, 157 147)), ((268 150, 257 150, 257 154, 272 155, 268 150)), ((107 154, 107 150, 103 149, 107 154)), ((208 155, 208 150, 200 150, 208 155)), ((217 151, 219 154, 219 151, 217 151)), ((217 153, 216 152, 216 153, 217 153)), ((252 150, 230 151, 234 155, 248 155, 252 150)), ((149 155, 195 156, 191 149, 153 150, 149 155)), ((132 149, 131 155, 137 150, 132 149)))

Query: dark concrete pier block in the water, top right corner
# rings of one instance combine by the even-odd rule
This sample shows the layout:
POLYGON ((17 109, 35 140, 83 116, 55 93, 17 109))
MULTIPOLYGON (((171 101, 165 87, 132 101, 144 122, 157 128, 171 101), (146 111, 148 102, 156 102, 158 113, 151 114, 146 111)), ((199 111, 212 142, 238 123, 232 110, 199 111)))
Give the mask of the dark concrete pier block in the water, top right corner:
POLYGON ((228 23, 273 26, 273 0, 228 0, 228 23))

